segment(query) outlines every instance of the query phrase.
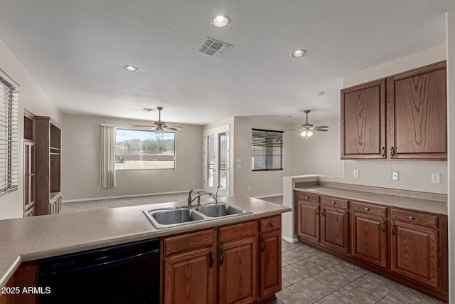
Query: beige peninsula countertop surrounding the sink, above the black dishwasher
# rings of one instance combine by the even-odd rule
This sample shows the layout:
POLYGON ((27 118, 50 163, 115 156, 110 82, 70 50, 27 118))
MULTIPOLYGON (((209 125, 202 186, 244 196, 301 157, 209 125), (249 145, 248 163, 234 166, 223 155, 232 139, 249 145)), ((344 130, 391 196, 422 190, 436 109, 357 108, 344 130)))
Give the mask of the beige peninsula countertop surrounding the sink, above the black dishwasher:
MULTIPOLYGON (((201 199, 203 204, 213 200, 201 199)), ((23 261, 158 238, 291 211, 287 206, 247 196, 218 198, 251 214, 156 229, 142 211, 183 206, 186 201, 149 204, 0 221, 0 287, 23 261)))

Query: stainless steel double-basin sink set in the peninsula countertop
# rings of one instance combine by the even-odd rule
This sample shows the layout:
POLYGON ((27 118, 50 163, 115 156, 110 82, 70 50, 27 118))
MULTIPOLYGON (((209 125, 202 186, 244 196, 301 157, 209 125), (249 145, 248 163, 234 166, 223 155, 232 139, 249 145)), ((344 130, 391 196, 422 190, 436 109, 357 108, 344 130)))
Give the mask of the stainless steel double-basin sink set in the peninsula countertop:
POLYGON ((151 224, 154 224, 157 229, 250 213, 252 212, 227 203, 180 206, 144 211, 151 224))

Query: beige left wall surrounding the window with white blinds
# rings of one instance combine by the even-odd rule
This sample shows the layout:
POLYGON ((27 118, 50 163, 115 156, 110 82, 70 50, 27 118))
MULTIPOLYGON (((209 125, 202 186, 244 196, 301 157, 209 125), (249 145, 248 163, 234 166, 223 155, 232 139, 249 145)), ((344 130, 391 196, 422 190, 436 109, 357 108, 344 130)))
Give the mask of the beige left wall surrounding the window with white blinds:
POLYGON ((53 117, 60 124, 62 122, 62 114, 2 41, 0 41, 0 68, 16 81, 16 83, 21 85, 18 99, 18 190, 0 197, 0 219, 11 219, 23 216, 23 108, 31 110, 35 115, 53 117))

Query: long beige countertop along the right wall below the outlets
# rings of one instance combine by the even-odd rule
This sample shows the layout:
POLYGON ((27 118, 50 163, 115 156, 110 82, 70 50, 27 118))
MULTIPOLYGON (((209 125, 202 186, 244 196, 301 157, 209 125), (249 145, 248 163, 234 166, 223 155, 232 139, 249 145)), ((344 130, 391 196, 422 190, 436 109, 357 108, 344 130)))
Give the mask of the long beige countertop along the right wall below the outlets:
MULTIPOLYGON (((349 199, 354 201, 365 201, 373 204, 382 204, 387 206, 394 206, 397 208, 404 209, 413 209, 416 211, 425 211, 431 212, 434 214, 447 214, 447 202, 444 200, 434 200, 425 193, 422 193, 422 198, 416 197, 419 196, 418 192, 414 192, 412 196, 399 196, 385 193, 375 193, 367 191, 358 191, 353 189, 341 189, 341 188, 332 188, 332 187, 323 187, 323 186, 309 186, 295 188, 295 190, 310 192, 319 195, 326 196, 336 196, 343 199, 349 199)), ((435 198, 440 195, 434 195, 435 198)))

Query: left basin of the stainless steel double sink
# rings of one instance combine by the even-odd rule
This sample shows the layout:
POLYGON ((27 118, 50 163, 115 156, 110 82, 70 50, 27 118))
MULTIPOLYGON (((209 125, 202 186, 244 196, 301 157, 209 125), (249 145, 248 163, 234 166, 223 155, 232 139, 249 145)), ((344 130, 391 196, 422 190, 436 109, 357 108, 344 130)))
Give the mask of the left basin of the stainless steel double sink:
POLYGON ((202 221, 204 216, 193 209, 156 209, 144 211, 149 220, 156 228, 176 226, 193 221, 202 221))

